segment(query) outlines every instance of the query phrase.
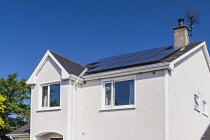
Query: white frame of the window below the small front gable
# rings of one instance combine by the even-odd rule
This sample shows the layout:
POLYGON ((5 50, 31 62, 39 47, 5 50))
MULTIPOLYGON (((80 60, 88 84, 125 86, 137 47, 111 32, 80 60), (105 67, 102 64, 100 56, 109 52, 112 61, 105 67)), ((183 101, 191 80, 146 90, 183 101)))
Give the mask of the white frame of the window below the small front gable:
POLYGON ((48 82, 48 83, 40 83, 39 86, 40 90, 39 90, 39 107, 38 107, 38 111, 47 111, 47 110, 60 110, 61 109, 61 82, 60 81, 52 81, 52 82, 48 82), (50 85, 55 85, 55 84, 60 84, 60 106, 55 106, 55 107, 50 107, 50 96, 49 96, 49 92, 50 92, 50 85), (47 107, 43 107, 42 106, 42 90, 44 86, 48 86, 48 106, 47 107))

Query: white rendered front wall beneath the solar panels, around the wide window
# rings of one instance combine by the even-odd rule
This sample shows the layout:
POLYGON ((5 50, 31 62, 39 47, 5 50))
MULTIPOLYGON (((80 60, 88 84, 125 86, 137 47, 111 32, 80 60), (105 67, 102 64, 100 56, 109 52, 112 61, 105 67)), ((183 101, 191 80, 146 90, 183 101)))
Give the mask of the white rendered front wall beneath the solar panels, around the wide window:
POLYGON ((136 76, 136 108, 100 111, 101 80, 75 94, 75 140, 164 140, 164 72, 136 76))

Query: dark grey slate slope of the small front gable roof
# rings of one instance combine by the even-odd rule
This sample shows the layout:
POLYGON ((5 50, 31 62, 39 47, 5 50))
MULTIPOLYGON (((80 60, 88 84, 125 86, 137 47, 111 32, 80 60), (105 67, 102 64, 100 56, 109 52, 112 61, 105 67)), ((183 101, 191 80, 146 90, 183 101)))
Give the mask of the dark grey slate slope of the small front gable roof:
POLYGON ((69 74, 74 74, 76 76, 79 76, 83 70, 85 69, 84 66, 81 66, 80 64, 73 62, 69 60, 68 58, 65 58, 51 50, 49 50, 52 55, 58 60, 58 62, 64 67, 64 69, 69 73, 69 74))

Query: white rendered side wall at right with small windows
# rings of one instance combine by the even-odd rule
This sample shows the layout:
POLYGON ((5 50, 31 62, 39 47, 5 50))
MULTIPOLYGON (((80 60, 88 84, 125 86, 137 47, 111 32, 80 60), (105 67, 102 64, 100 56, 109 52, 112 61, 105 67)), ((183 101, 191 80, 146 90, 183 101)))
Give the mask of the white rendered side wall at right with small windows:
POLYGON ((210 113, 210 74, 201 49, 176 64, 169 76, 170 140, 199 140, 209 125, 209 117, 194 110, 195 93, 200 106, 201 99, 207 101, 210 113))

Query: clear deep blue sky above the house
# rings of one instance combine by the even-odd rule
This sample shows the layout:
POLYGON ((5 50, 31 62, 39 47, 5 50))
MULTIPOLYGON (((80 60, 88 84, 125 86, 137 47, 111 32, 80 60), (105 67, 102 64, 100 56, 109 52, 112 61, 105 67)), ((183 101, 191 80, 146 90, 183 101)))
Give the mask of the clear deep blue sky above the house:
POLYGON ((2 0, 0 77, 28 78, 47 49, 79 64, 173 44, 172 27, 200 11, 191 42, 210 46, 210 1, 2 0))

